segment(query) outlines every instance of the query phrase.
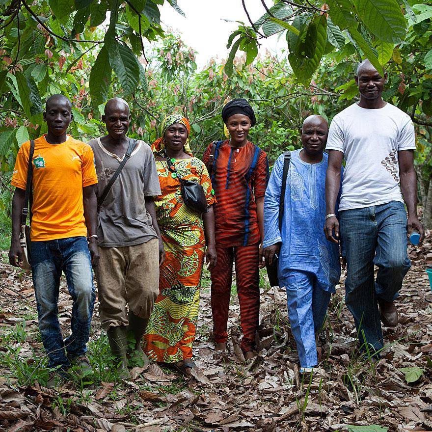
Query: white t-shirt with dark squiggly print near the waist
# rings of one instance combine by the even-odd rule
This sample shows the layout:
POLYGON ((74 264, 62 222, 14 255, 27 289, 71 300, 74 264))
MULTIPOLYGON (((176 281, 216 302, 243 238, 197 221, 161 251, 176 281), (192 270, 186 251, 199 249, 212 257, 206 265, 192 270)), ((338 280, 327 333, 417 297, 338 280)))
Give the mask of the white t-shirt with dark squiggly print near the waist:
POLYGON ((333 118, 326 150, 339 150, 346 162, 339 210, 403 201, 398 152, 415 150, 414 125, 387 103, 368 109, 353 104, 333 118))

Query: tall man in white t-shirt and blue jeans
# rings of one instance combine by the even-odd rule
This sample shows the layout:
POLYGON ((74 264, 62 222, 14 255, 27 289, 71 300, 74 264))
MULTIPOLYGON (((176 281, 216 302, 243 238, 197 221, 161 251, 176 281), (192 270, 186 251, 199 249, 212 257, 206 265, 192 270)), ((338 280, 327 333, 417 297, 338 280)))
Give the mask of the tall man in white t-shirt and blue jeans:
POLYGON ((416 230, 420 242, 424 238, 416 210, 414 126, 405 112, 382 100, 386 78, 369 60, 359 64, 355 81, 360 102, 333 118, 326 146, 324 231, 328 240, 338 242, 340 224, 348 264, 346 304, 354 317, 361 351, 367 343, 377 357, 383 347, 380 320, 387 327, 398 323, 393 300, 411 266, 406 233, 416 230), (346 166, 338 220, 334 210, 342 159, 346 166), (378 267, 376 280, 374 264, 378 267))

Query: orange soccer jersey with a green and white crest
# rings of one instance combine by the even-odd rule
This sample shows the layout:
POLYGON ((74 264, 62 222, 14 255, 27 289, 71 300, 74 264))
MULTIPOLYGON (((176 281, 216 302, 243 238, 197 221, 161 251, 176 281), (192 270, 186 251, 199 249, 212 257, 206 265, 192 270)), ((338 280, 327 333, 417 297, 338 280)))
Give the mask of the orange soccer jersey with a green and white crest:
MULTIPOLYGON (((18 151, 12 186, 26 189, 30 141, 18 151)), ((91 147, 67 135, 50 144, 45 135, 34 140, 32 241, 85 236, 82 188, 98 182, 91 147)))

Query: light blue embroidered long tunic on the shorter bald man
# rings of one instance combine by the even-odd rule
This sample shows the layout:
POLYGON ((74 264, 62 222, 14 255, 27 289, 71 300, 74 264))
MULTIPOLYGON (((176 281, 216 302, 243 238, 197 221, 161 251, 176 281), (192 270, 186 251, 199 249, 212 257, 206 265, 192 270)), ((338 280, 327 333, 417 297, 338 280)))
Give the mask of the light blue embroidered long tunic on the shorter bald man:
POLYGON ((321 289, 334 293, 341 274, 339 245, 329 242, 323 230, 328 155, 324 153, 321 162, 310 164, 299 154, 300 149, 291 152, 281 233, 278 215, 283 155, 273 165, 264 199, 263 247, 282 242, 278 265, 282 287, 290 270, 303 270, 316 275, 321 289))

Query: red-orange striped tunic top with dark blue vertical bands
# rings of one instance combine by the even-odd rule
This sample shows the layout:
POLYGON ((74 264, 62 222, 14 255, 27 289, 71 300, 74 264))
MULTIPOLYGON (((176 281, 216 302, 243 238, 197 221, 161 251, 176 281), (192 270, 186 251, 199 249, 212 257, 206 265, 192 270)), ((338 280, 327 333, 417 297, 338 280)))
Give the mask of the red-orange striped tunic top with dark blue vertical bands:
MULTIPOLYGON (((204 152, 209 161, 213 144, 204 152)), ((212 173, 217 203, 215 208, 216 243, 223 246, 248 246, 261 239, 255 198, 263 197, 269 180, 266 152, 251 142, 240 149, 228 140, 218 142, 212 173)))

